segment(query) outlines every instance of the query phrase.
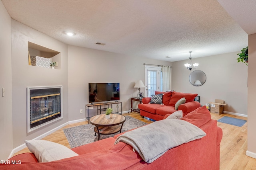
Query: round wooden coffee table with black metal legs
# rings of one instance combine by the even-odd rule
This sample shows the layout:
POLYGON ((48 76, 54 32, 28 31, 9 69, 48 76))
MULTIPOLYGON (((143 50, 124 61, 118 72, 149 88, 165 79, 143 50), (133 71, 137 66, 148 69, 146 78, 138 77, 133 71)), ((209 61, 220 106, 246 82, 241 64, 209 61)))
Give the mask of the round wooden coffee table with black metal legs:
POLYGON ((90 123, 95 125, 94 132, 95 135, 98 133, 98 141, 100 140, 100 135, 110 135, 122 131, 123 124, 125 122, 125 117, 118 114, 110 114, 110 119, 105 118, 105 114, 96 115, 90 118, 90 123))

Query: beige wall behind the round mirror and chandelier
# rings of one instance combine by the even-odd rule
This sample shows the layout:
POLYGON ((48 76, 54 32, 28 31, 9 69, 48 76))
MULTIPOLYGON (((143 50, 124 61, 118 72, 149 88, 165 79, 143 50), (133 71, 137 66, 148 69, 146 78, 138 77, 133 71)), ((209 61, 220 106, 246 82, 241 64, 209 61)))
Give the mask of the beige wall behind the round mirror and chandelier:
POLYGON ((248 66, 237 63, 237 53, 239 52, 192 58, 192 63, 199 63, 199 66, 191 71, 184 66, 189 60, 173 62, 172 90, 197 93, 201 105, 223 99, 228 104, 224 111, 247 115, 248 66), (194 70, 202 70, 206 74, 206 82, 202 86, 190 84, 188 77, 194 70))

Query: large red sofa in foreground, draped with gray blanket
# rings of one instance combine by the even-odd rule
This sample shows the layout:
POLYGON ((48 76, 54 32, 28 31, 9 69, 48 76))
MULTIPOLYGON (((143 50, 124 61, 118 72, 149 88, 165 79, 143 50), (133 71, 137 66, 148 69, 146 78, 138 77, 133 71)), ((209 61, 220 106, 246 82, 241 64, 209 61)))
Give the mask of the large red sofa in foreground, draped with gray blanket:
MULTIPOLYGON (((165 118, 168 115, 165 116, 165 118)), ((52 162, 38 163, 32 153, 23 153, 9 159, 17 164, 1 164, 1 170, 218 170, 220 168, 220 141, 222 129, 211 119, 205 106, 188 113, 182 120, 196 125, 206 136, 184 143, 165 152, 160 158, 148 164, 138 152, 126 143, 114 145, 116 138, 110 137, 94 143, 73 148, 79 154, 52 162)), ((125 132, 126 133, 126 132, 125 132)), ((150 133, 150 132, 148 132, 150 133)))

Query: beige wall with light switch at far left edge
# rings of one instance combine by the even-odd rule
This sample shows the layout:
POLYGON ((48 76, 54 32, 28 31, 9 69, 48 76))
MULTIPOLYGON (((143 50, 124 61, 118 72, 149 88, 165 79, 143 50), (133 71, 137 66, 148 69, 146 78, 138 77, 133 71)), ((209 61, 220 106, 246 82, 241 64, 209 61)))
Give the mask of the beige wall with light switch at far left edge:
POLYGON ((11 18, 0 1, 0 160, 6 160, 12 146, 12 57, 11 18), (5 96, 2 97, 2 88, 5 96))

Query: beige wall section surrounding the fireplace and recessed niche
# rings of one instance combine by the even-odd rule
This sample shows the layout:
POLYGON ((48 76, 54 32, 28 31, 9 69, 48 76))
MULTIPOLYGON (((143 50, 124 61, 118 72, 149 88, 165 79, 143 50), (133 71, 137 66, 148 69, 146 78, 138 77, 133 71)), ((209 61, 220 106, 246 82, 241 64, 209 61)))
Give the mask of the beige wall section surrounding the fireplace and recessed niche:
POLYGON ((12 123, 13 148, 68 121, 68 46, 22 23, 12 20, 12 123), (61 69, 28 65, 28 41, 61 53, 61 69), (63 86, 63 119, 27 133, 26 88, 63 86))

